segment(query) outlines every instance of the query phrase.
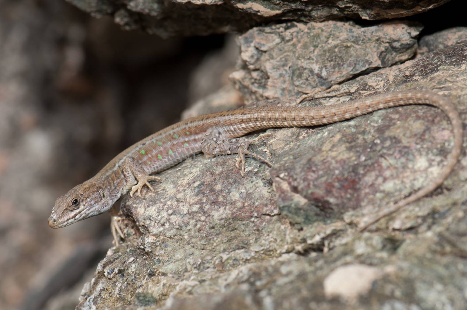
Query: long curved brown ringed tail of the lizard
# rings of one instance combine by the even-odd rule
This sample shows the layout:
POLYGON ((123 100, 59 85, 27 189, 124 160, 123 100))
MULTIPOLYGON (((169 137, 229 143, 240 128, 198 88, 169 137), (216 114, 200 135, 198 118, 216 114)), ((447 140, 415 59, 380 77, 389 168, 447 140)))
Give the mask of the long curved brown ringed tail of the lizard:
MULTIPOLYGON (((360 227, 359 232, 367 229, 375 224, 380 219, 396 212, 403 206, 410 204, 421 197, 429 194, 439 187, 444 180, 449 176, 462 150, 462 121, 459 113, 453 102, 446 97, 440 96, 433 92, 421 91, 403 91, 391 92, 387 94, 379 94, 369 98, 349 101, 342 104, 318 107, 269 107, 262 108, 262 111, 257 111, 252 115, 252 119, 260 118, 264 122, 251 122, 250 124, 259 124, 260 127, 253 128, 254 130, 265 129, 270 127, 304 127, 315 126, 348 120, 354 117, 368 114, 376 110, 385 109, 392 106, 406 105, 430 105, 441 109, 448 116, 453 127, 453 149, 447 156, 446 165, 441 169, 439 175, 428 185, 418 190, 411 196, 404 198, 396 204, 389 207, 381 215, 372 219, 360 227)), ((260 109, 260 108, 258 108, 260 109)), ((253 109, 252 109, 253 110, 253 109)), ((251 115, 251 114, 250 114, 251 115)), ((247 117, 248 118, 248 117, 247 117)), ((244 124, 248 124, 248 120, 243 120, 244 124)), ((251 129, 251 128, 248 128, 251 129)))

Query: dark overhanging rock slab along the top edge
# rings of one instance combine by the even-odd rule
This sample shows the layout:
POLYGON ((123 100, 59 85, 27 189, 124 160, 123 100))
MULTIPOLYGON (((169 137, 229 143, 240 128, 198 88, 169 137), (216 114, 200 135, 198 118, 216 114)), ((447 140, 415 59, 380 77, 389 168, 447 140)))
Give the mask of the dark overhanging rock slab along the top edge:
POLYGON ((247 30, 271 21, 381 20, 425 12, 449 0, 68 0, 127 29, 162 37, 247 30), (202 21, 202 22, 200 22, 202 21))

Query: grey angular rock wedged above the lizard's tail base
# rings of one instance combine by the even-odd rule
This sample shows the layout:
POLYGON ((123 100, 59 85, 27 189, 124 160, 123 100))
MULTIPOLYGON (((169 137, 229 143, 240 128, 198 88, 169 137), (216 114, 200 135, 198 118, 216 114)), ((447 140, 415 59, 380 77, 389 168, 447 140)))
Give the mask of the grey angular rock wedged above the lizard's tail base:
POLYGON ((288 98, 405 61, 417 50, 420 25, 388 22, 288 22, 239 36, 241 69, 231 74, 247 102, 288 98))

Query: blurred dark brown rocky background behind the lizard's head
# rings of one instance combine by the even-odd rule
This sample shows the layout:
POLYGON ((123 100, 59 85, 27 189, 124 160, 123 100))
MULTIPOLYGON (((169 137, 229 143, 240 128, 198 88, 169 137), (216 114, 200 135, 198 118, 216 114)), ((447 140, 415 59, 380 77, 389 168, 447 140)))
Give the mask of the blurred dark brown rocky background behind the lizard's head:
POLYGON ((64 1, 0 1, 0 309, 76 306, 109 217, 53 230, 55 199, 227 84, 236 55, 224 35, 163 40, 64 1))

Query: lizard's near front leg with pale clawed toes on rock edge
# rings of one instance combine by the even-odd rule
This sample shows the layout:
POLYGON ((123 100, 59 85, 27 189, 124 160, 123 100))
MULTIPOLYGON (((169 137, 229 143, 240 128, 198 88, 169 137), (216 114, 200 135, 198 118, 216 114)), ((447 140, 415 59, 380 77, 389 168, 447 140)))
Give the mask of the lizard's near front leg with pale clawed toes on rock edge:
POLYGON ((147 185, 149 190, 154 190, 149 184, 149 181, 156 180, 161 181, 161 178, 157 176, 149 176, 143 169, 142 165, 136 161, 133 157, 127 157, 121 165, 121 171, 127 184, 134 184, 130 191, 130 196, 133 197, 135 191, 138 191, 138 195, 141 197, 141 189, 144 185, 147 185))

